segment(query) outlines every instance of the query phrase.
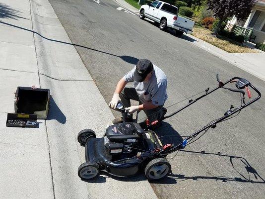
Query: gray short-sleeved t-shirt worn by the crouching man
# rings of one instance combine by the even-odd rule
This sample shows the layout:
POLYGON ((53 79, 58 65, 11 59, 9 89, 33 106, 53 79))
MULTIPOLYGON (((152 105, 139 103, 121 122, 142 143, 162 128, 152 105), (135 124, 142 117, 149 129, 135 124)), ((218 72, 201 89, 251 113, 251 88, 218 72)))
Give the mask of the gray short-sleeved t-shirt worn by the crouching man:
POLYGON ((167 100, 167 77, 164 72, 153 65, 153 74, 148 82, 135 82, 133 80, 133 73, 129 71, 123 79, 128 82, 133 82, 136 93, 142 103, 152 101, 154 105, 164 105, 167 100))

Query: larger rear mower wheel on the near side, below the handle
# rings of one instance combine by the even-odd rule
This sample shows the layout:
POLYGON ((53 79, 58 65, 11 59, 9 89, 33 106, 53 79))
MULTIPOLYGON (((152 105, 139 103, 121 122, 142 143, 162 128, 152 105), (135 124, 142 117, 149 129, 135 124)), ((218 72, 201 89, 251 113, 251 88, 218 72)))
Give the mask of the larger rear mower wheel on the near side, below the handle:
POLYGON ((155 158, 144 169, 144 174, 150 181, 160 180, 166 177, 169 172, 171 172, 171 165, 166 158, 155 158))

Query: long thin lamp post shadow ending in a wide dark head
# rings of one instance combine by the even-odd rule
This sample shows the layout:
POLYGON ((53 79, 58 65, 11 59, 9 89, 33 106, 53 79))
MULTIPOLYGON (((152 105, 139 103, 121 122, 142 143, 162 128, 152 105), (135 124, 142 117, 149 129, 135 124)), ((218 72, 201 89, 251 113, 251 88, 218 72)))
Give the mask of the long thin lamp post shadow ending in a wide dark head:
POLYGON ((99 52, 99 53, 104 53, 104 54, 107 54, 107 55, 112 55, 112 56, 115 56, 115 57, 119 57, 122 60, 124 60, 125 62, 128 62, 130 64, 136 64, 138 62, 138 59, 135 58, 135 57, 132 57, 132 56, 127 56, 127 55, 119 56, 119 55, 107 53, 107 52, 104 52, 104 51, 101 51, 101 50, 97 50, 97 49, 89 48, 89 47, 86 47, 86 46, 82 46, 82 45, 79 45, 79 44, 69 43, 69 42, 65 42, 65 41, 59 41, 59 40, 55 40, 55 39, 50 39, 50 38, 47 38, 47 37, 41 35, 40 33, 36 32, 34 30, 23 28, 23 27, 20 27, 20 26, 17 26, 17 25, 13 25, 13 24, 10 24, 10 23, 6 23, 6 22, 3 22, 3 21, 0 21, 0 23, 5 24, 5 25, 9 25, 9 26, 12 26, 12 27, 15 27, 15 28, 19 28, 19 29, 22 29, 22 30, 26 30, 26 31, 29 31, 29 32, 33 32, 34 34, 37 34, 40 37, 42 37, 44 39, 47 39, 49 41, 54 41, 54 42, 63 43, 63 44, 67 44, 67 45, 82 47, 82 48, 85 48, 85 49, 88 49, 88 50, 93 50, 93 51, 96 51, 96 52, 99 52))

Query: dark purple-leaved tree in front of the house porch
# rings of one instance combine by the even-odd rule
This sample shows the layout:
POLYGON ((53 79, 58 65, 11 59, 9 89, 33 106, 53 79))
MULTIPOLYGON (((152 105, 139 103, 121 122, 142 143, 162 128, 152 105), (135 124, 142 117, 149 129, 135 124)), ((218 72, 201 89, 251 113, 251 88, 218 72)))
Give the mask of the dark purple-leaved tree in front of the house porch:
POLYGON ((211 9, 213 15, 219 18, 214 34, 217 35, 222 22, 228 17, 235 15, 239 20, 246 18, 255 3, 256 0, 208 0, 208 9, 211 9))

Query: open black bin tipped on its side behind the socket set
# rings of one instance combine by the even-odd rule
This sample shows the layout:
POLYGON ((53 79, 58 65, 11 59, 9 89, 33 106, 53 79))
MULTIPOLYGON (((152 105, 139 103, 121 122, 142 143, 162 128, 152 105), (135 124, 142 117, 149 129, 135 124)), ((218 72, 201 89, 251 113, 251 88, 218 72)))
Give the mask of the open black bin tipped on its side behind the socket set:
POLYGON ((37 119, 47 119, 50 90, 32 87, 17 87, 15 113, 36 114, 37 119))

